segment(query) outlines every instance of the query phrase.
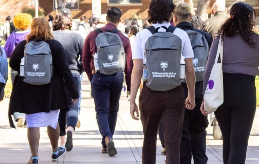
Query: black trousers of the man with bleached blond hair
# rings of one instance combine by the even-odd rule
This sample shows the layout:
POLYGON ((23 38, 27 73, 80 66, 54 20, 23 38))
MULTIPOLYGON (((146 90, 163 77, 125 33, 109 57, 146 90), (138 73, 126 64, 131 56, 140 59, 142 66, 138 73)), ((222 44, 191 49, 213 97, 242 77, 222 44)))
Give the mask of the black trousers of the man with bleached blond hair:
POLYGON ((185 109, 182 139, 181 139, 181 164, 191 164, 192 157, 195 164, 206 164, 206 127, 207 116, 200 112, 202 99, 195 99, 196 106, 193 110, 185 109))

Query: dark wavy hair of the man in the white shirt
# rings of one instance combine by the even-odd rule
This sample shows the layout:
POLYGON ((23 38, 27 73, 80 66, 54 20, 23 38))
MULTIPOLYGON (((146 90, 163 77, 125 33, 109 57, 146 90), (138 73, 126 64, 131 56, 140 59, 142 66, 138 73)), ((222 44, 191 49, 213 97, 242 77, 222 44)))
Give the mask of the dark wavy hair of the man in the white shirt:
POLYGON ((174 10, 175 4, 172 0, 151 0, 149 3, 147 21, 149 23, 169 22, 174 10))

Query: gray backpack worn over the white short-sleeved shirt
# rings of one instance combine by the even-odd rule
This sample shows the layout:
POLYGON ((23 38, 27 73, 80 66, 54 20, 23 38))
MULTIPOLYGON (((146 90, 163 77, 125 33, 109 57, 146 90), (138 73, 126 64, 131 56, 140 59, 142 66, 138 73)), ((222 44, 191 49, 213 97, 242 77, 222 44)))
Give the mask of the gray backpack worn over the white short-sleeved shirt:
MULTIPOLYGON (((160 27, 159 27, 160 28, 160 27)), ((181 86, 180 59, 182 40, 173 34, 176 27, 162 27, 158 32, 154 26, 147 28, 153 34, 145 45, 147 87, 155 91, 167 91, 181 86)))

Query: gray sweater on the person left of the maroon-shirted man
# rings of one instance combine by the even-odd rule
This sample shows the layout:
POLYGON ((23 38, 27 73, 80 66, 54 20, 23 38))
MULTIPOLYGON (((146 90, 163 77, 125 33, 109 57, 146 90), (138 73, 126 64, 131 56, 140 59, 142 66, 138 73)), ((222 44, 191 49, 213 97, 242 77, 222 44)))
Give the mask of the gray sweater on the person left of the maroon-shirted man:
POLYGON ((81 35, 72 31, 53 31, 55 40, 64 47, 67 55, 67 64, 73 74, 80 74, 83 71, 80 61, 82 61, 82 50, 84 39, 81 35))

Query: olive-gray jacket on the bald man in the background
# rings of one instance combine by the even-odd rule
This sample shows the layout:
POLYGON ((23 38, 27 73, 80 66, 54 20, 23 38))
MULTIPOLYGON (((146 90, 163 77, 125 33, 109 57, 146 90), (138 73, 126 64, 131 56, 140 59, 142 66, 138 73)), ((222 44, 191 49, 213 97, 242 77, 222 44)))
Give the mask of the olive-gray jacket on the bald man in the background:
POLYGON ((218 30, 220 29, 221 25, 227 20, 229 17, 225 13, 225 11, 218 11, 214 14, 214 17, 205 20, 201 25, 201 30, 205 31, 210 34, 213 38, 217 36, 218 30))

